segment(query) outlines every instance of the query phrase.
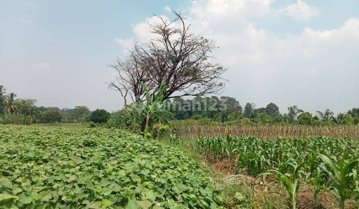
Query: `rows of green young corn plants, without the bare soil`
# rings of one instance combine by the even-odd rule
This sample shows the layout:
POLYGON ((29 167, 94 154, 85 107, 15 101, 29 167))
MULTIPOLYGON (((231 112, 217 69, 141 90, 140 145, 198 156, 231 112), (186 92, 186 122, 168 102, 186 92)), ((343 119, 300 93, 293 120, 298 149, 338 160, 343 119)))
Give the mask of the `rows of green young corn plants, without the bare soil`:
POLYGON ((344 208, 347 199, 359 197, 357 141, 346 138, 260 140, 254 137, 199 138, 194 149, 204 156, 234 160, 238 173, 271 176, 282 184, 296 208, 300 181, 330 191, 344 208))

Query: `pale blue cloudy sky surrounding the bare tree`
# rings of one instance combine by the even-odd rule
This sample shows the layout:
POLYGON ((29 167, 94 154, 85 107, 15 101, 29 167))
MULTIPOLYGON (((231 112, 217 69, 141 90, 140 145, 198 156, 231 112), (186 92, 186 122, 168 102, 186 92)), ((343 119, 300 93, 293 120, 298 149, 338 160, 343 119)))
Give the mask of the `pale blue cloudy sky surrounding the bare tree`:
POLYGON ((107 66, 170 8, 217 41, 221 95, 281 112, 359 107, 358 0, 1 0, 0 85, 37 105, 118 110, 107 66))

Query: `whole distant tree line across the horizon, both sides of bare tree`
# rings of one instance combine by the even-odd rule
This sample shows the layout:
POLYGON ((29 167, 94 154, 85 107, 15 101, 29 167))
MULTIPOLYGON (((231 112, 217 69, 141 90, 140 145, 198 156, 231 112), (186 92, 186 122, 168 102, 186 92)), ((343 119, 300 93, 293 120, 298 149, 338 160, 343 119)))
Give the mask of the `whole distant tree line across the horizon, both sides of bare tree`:
MULTIPOLYGON (((36 106, 35 103, 36 100, 34 99, 21 99, 17 98, 14 93, 7 94, 6 89, 0 85, 0 123, 106 123, 111 119, 112 124, 121 126, 128 122, 124 119, 128 114, 126 108, 110 114, 105 109, 90 111, 87 106, 83 105, 60 109, 58 107, 36 106)), ((359 124, 359 108, 352 108, 337 115, 330 109, 316 111, 315 114, 312 114, 293 105, 288 107, 287 112, 281 113, 278 105, 274 103, 259 108, 254 103, 247 103, 242 107, 235 98, 226 96, 219 98, 216 96, 210 98, 194 97, 187 100, 174 98, 160 103, 161 101, 156 103, 158 106, 156 108, 173 113, 166 117, 167 121, 186 120, 183 122, 188 122, 190 119, 192 122, 203 124, 359 124)), ((139 126, 142 125, 141 123, 142 121, 138 122, 139 126)), ((146 124, 143 125, 147 126, 146 124)))

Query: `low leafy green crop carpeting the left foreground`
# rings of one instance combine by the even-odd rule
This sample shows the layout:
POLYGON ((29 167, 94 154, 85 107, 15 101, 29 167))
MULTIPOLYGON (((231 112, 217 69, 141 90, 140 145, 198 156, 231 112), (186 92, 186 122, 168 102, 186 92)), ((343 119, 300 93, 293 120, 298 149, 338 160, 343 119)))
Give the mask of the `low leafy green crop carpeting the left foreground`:
POLYGON ((197 163, 118 129, 0 126, 0 208, 218 208, 197 163))

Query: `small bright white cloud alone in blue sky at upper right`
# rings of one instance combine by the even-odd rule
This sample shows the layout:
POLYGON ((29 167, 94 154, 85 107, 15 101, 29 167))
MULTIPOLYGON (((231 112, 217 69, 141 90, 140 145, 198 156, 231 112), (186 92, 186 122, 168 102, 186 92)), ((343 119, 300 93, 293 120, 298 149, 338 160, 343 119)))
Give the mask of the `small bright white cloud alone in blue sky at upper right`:
POLYGON ((280 12, 284 12, 286 15, 297 20, 309 20, 313 16, 319 14, 317 8, 310 6, 308 3, 298 0, 297 3, 292 3, 282 7, 280 12))

